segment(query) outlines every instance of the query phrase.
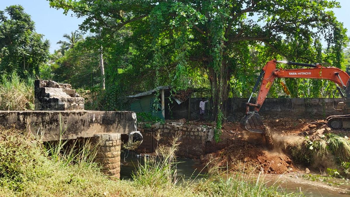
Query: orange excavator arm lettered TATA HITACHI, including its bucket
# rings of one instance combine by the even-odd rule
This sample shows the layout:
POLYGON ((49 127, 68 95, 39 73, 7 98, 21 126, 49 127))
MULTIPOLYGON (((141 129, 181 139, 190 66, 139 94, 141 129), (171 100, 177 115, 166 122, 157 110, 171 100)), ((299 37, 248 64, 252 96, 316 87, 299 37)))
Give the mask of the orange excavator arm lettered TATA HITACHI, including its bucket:
POLYGON ((257 88, 259 82, 260 89, 258 91, 258 97, 256 103, 250 103, 252 95, 250 96, 248 102, 246 103, 246 115, 241 120, 241 128, 255 132, 264 133, 265 126, 262 123, 261 117, 258 114, 262 104, 264 103, 268 91, 270 90, 274 80, 278 78, 303 78, 303 79, 325 79, 330 80, 338 84, 342 89, 346 89, 346 84, 349 81, 349 75, 345 73, 342 69, 336 67, 323 67, 321 64, 306 64, 297 62, 286 62, 286 61, 276 61, 271 60, 266 63, 262 68, 260 76, 255 83, 252 95, 257 88), (300 69, 282 69, 276 68, 276 63, 286 63, 289 65, 296 66, 306 66, 311 68, 300 68, 300 69), (250 106, 254 107, 254 111, 249 111, 250 106))

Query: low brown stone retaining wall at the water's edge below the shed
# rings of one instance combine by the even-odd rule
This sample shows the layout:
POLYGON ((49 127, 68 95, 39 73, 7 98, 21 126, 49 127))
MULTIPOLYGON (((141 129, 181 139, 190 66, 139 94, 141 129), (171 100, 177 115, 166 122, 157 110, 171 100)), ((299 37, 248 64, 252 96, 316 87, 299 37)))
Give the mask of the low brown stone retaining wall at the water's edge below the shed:
POLYGON ((176 134, 180 136, 180 146, 177 155, 187 158, 200 158, 206 153, 205 144, 214 136, 214 128, 207 125, 187 125, 179 122, 166 122, 165 124, 150 124, 141 122, 138 124, 144 141, 138 148, 138 152, 154 152, 157 145, 169 144, 176 134), (150 126, 150 128, 149 128, 150 126), (156 140, 157 134, 160 140, 156 140))

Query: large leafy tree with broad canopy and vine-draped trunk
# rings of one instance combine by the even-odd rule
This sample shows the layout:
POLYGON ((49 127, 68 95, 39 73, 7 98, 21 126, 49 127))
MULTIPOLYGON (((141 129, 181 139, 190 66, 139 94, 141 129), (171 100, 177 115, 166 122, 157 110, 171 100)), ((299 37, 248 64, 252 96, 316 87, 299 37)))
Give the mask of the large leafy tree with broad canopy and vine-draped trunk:
POLYGON ((78 17, 86 17, 81 30, 97 33, 102 28, 106 42, 113 40, 114 32, 130 30, 132 34, 125 41, 139 49, 135 57, 143 60, 137 63, 153 68, 154 73, 175 70, 172 81, 182 81, 184 68, 207 69, 215 106, 213 117, 219 117, 218 122, 225 114, 230 80, 240 75, 245 82, 247 76, 257 73, 252 48, 262 48, 265 56, 260 60, 264 61, 276 57, 303 62, 325 60, 340 67, 347 39, 346 30, 331 11, 339 7, 335 1, 49 1, 65 13, 71 10, 78 17), (327 58, 320 55, 322 38, 331 53, 327 58))

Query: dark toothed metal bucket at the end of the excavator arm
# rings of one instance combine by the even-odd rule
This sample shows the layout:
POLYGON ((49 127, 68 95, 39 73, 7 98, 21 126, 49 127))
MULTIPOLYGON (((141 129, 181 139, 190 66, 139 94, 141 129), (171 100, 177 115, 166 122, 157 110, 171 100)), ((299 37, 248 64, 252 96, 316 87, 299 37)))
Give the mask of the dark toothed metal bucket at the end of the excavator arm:
POLYGON ((265 126, 257 111, 248 111, 248 113, 240 121, 242 129, 254 133, 265 133, 265 126))

